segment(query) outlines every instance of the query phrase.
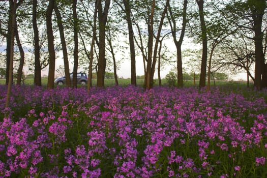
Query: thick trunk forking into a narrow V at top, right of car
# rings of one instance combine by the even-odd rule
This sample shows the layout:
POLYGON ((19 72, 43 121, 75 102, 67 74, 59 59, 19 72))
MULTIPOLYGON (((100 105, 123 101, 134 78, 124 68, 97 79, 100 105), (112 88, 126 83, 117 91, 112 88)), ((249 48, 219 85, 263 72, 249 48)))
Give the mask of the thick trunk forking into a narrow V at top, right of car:
POLYGON ((105 86, 105 70, 106 70, 106 58, 105 58, 105 34, 106 34, 106 22, 110 0, 105 1, 104 10, 102 4, 98 5, 98 22, 99 22, 99 61, 98 61, 98 73, 97 73, 97 86, 105 86))

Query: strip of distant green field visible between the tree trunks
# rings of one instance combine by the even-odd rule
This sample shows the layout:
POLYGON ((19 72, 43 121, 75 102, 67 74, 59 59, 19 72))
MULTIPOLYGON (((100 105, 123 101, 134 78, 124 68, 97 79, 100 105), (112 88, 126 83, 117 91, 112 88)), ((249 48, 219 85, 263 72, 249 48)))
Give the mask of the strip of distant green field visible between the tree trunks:
MULTIPOLYGON (((6 80, 5 79, 0 79, 0 84, 5 84, 6 80)), ((14 81, 15 83, 16 81, 14 81)), ((142 86, 143 85, 143 82, 144 82, 144 79, 137 79, 137 85, 138 86, 142 86)), ((131 83, 131 79, 122 79, 122 78, 119 78, 118 79, 118 84, 120 86, 128 86, 129 84, 131 83)), ((161 81, 162 85, 163 86, 167 86, 168 85, 168 82, 166 79, 162 79, 161 81)), ((24 84, 26 85, 33 85, 34 84, 34 79, 33 78, 28 78, 24 81, 24 84)), ((97 79, 93 79, 93 86, 96 86, 97 84, 97 79)), ((199 81, 196 81, 196 84, 198 86, 199 84, 199 81)), ((225 84, 228 84, 228 85, 240 85, 240 86, 245 86, 246 85, 246 82, 245 81, 215 81, 215 85, 225 85, 225 84)), ((47 85, 47 78, 42 78, 42 85, 43 86, 46 86, 47 85)), ((114 86, 115 85, 115 80, 114 79, 105 79, 105 85, 106 86, 114 86)), ((155 84, 154 86, 158 86, 159 85, 159 82, 158 80, 156 79, 155 80, 155 84)), ((211 86, 214 85, 214 82, 212 81, 211 82, 211 86)), ((184 81, 184 86, 194 86, 194 81, 193 80, 185 80, 184 81)), ((252 86, 252 84, 251 84, 252 86)))

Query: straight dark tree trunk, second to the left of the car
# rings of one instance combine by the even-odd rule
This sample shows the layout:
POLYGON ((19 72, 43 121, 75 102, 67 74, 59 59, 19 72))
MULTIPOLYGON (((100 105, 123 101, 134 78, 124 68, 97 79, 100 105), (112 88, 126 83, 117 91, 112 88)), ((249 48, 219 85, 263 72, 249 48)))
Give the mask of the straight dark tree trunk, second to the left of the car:
POLYGON ((37 0, 33 0, 33 29, 34 29, 34 84, 42 86, 39 32, 37 26, 37 0))

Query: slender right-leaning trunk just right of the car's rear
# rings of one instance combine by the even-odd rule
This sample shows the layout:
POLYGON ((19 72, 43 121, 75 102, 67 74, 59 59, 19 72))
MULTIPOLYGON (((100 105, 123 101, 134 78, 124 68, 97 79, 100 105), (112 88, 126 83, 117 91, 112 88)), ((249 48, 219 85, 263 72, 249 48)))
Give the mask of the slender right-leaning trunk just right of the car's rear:
POLYGON ((94 58, 94 46, 95 46, 95 40, 96 40, 96 31, 97 31, 97 9, 98 5, 100 3, 100 0, 96 0, 95 2, 95 12, 94 12, 94 21, 93 21, 93 37, 92 37, 92 42, 91 42, 91 48, 90 48, 90 64, 89 64, 89 71, 88 71, 88 91, 90 90, 92 86, 92 75, 93 75, 93 58, 94 58))

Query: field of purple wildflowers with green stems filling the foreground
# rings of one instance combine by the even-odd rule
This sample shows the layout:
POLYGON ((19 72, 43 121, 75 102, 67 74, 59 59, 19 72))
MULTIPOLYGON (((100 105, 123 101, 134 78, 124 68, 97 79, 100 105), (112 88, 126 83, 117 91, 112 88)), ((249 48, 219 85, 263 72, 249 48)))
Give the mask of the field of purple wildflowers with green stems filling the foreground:
POLYGON ((0 177, 267 177, 267 91, 0 85, 0 177))

